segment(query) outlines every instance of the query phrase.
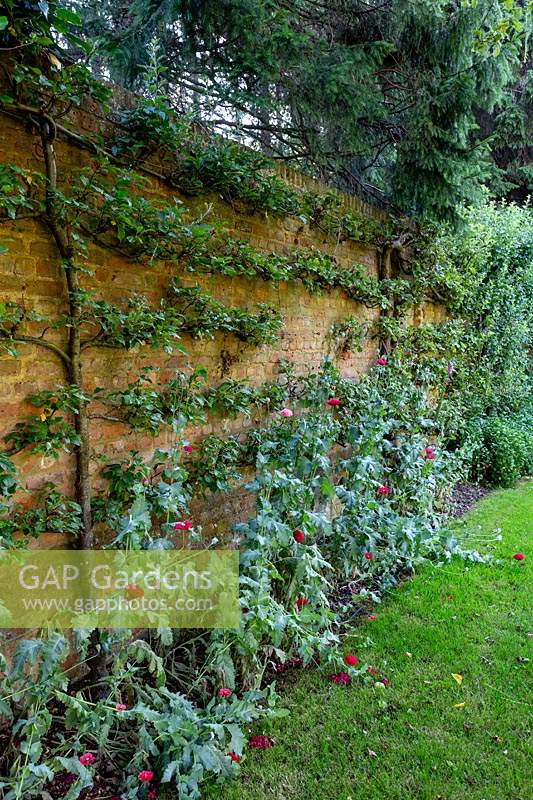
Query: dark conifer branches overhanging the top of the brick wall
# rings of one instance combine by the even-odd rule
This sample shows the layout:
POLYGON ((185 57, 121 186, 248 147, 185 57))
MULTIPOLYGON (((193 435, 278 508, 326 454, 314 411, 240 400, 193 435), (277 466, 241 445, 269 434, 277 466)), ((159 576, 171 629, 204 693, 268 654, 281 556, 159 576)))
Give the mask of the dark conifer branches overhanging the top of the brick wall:
MULTIPOLYGON (((163 124, 157 98, 179 97, 180 110, 203 129, 252 143, 373 202, 439 219, 455 217, 462 201, 480 199, 483 183, 505 175, 511 157, 491 158, 487 141, 494 137, 501 150, 505 125, 519 154, 527 151, 520 127, 529 95, 520 121, 510 119, 515 95, 524 93, 531 34, 520 2, 332 0, 326 25, 322 6, 309 2, 130 2, 126 16, 111 0, 76 5, 87 33, 105 42, 99 58, 130 88, 146 86, 148 44, 159 42, 148 70, 159 80, 148 81, 147 99, 132 116, 135 134, 141 123, 150 132, 163 124)), ((285 213, 281 193, 281 202, 272 203, 268 189, 265 197, 262 156, 233 148, 213 143, 183 155, 177 144, 169 161, 175 153, 178 180, 189 162, 193 190, 229 188, 252 206, 285 213), (243 174, 254 160, 252 184, 243 174), (223 170, 230 186, 221 184, 223 170)))

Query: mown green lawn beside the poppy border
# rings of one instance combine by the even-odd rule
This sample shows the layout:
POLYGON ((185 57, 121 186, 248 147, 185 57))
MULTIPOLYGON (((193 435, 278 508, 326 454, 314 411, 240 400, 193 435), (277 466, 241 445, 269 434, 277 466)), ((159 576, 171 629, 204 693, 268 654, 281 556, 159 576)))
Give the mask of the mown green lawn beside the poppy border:
POLYGON ((270 733, 274 747, 248 751, 240 779, 206 797, 533 797, 531 664, 523 660, 533 658, 533 482, 492 493, 467 521, 502 529, 494 548, 502 563, 426 569, 344 643, 343 652, 389 678, 386 689, 335 686, 315 669, 296 673, 283 694, 291 716, 255 731, 270 733), (521 563, 512 560, 516 551, 526 555, 521 563), (452 672, 464 676, 462 685, 452 672))

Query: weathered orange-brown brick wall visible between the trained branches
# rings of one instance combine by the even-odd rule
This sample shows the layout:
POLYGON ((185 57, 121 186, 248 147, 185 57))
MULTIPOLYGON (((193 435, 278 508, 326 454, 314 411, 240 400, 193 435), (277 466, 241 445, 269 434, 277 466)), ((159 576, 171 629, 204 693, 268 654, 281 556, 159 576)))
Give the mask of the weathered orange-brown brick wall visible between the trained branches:
MULTIPOLYGON (((94 109, 91 113, 79 115, 77 119, 82 131, 94 131, 101 124, 94 109)), ((56 149, 60 183, 68 183, 69 174, 86 163, 89 155, 62 141, 57 142, 56 149)), ((43 169, 38 136, 14 118, 2 117, 0 153, 3 161, 28 169, 43 169)), ((290 170, 284 170, 283 175, 295 185, 317 186, 315 182, 290 170)), ((169 198, 176 196, 175 190, 170 190, 157 179, 151 180, 148 191, 169 198)), ((204 208, 206 203, 211 204, 211 219, 223 221, 230 235, 248 239, 261 250, 284 253, 295 246, 315 247, 335 256, 344 265, 362 263, 370 274, 376 274, 377 255, 372 247, 353 242, 336 244, 299 220, 278 219, 261 213, 242 214, 216 197, 195 198, 192 203, 190 199, 182 199, 197 210, 204 208)), ((364 213, 380 216, 380 212, 363 206, 354 198, 346 198, 346 203, 364 213)), ((8 247, 8 252, 0 256, 0 302, 22 302, 29 309, 40 311, 48 317, 57 317, 64 311, 63 277, 58 254, 47 229, 34 220, 4 221, 0 225, 0 237, 8 247)), ((94 271, 94 277, 87 281, 84 279, 84 283, 91 284, 99 297, 115 302, 135 291, 145 294, 155 304, 162 297, 170 277, 180 272, 179 265, 166 263, 151 269, 144 268, 98 247, 90 248, 88 266, 94 271)), ((215 298, 229 305, 251 307, 254 303, 265 302, 275 306, 284 317, 279 341, 274 346, 248 348, 231 336, 217 335, 213 341, 184 337, 183 344, 188 356, 167 355, 148 347, 130 352, 88 349, 83 356, 87 389, 97 386, 107 389, 123 387, 146 366, 160 368, 160 372, 154 372, 153 377, 161 384, 167 382, 176 369, 183 369, 187 365, 206 367, 212 383, 220 381, 222 377, 231 377, 260 384, 274 377, 280 358, 291 359, 300 372, 318 367, 328 352, 327 334, 333 323, 342 321, 348 315, 357 314, 363 320, 372 319, 378 313, 349 300, 341 291, 314 296, 294 283, 272 286, 244 278, 198 278, 190 275, 184 276, 183 282, 198 282, 208 288, 215 298)), ((441 316, 441 313, 438 309, 425 306, 415 310, 413 319, 421 322, 436 315, 441 316)), ((42 326, 35 324, 32 333, 39 334, 41 331, 42 326)), ((57 341, 61 342, 61 333, 57 341)), ((376 342, 367 341, 362 353, 343 357, 339 366, 345 375, 357 376, 369 367, 375 357, 376 342)), ((53 353, 42 348, 20 345, 18 359, 0 356, 0 435, 36 411, 25 400, 28 394, 53 389, 63 380, 59 361, 53 353)), ((245 419, 228 421, 211 417, 205 425, 188 431, 188 435, 194 442, 207 433, 238 431, 247 424, 249 422, 245 419)), ((168 443, 166 435, 154 439, 132 433, 124 425, 102 420, 92 422, 91 439, 94 456, 105 453, 112 458, 121 457, 131 449, 148 455, 156 446, 168 443)), ((46 481, 54 481, 63 490, 72 492, 71 456, 63 455, 53 460, 22 453, 15 460, 20 468, 21 479, 28 488, 35 489, 46 481)), ((97 469, 95 461, 95 474, 97 469)), ((220 502, 194 504, 193 513, 210 531, 215 524, 224 527, 229 520, 242 517, 248 501, 247 495, 236 488, 232 495, 224 496, 220 502)), ((61 544, 60 537, 53 534, 38 542, 38 546, 44 547, 58 544, 61 544)))

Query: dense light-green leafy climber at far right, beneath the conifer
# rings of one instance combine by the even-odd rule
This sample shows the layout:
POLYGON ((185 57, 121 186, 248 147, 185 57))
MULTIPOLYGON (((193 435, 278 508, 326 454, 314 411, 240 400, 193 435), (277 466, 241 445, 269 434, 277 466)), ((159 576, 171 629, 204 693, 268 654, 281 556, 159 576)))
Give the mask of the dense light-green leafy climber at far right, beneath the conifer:
POLYGON ((455 319, 406 329, 398 355, 437 392, 445 442, 478 464, 479 477, 490 474, 493 452, 481 453, 483 419, 507 417, 531 395, 533 218, 529 206, 493 203, 464 210, 462 218, 459 232, 441 232, 428 247, 421 278, 436 274, 455 319))

